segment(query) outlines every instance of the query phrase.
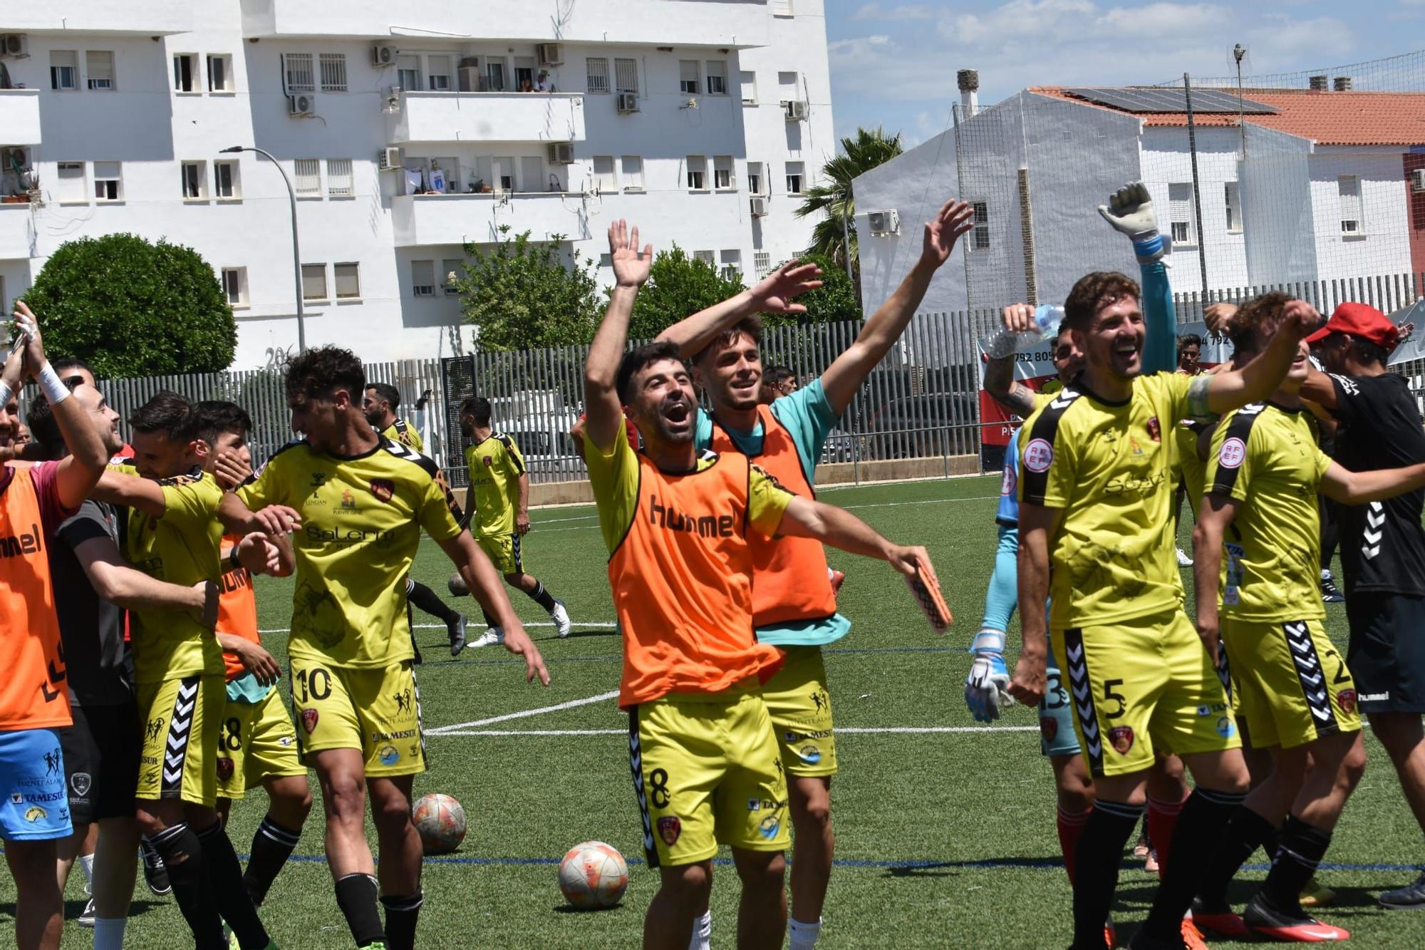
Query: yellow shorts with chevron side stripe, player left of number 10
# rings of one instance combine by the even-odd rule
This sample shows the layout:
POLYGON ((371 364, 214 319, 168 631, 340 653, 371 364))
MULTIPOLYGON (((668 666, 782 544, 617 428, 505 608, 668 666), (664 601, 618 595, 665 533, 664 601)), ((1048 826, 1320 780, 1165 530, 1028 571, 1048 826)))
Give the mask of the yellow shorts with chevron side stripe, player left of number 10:
POLYGON ((218 770, 208 756, 218 747, 225 702, 222 673, 138 683, 144 749, 134 797, 217 805, 218 770))

